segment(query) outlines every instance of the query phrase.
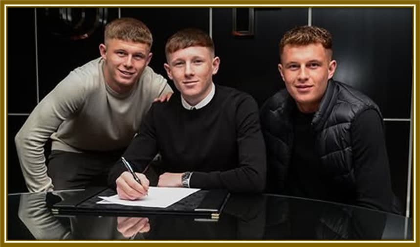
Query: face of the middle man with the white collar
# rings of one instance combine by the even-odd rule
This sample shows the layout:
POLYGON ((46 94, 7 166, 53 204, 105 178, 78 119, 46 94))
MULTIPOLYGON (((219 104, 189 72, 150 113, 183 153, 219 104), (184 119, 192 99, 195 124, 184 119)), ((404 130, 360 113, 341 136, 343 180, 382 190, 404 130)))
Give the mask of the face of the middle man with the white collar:
POLYGON ((168 77, 188 104, 197 105, 211 91, 212 76, 219 69, 219 57, 208 47, 190 46, 167 55, 168 77))

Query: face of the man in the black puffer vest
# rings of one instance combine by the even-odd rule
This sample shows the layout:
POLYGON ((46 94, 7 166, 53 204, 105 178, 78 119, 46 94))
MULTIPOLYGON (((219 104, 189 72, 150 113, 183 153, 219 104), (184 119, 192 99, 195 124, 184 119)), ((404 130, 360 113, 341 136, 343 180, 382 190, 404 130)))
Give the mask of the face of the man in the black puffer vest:
POLYGON ((301 112, 316 112, 336 67, 321 44, 285 45, 278 65, 286 89, 301 112))

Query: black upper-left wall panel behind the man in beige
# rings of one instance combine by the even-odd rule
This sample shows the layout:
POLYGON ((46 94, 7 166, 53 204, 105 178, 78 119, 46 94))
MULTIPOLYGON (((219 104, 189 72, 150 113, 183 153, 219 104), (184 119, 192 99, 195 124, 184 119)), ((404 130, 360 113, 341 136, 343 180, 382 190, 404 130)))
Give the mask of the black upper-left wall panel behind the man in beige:
MULTIPOLYGON (((118 18, 117 8, 107 12, 107 22, 118 18)), ((94 23, 102 19, 99 8, 37 8, 40 100, 71 70, 100 56, 104 25, 94 23), (75 40, 84 33, 88 38, 75 40)))

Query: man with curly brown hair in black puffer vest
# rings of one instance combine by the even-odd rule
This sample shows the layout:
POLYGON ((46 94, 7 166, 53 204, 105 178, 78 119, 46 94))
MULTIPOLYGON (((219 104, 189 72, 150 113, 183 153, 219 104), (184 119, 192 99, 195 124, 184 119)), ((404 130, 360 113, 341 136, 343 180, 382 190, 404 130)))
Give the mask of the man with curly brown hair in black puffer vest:
POLYGON ((332 79, 331 34, 296 27, 279 48, 286 89, 260 112, 266 191, 399 212, 382 114, 370 98, 332 79))

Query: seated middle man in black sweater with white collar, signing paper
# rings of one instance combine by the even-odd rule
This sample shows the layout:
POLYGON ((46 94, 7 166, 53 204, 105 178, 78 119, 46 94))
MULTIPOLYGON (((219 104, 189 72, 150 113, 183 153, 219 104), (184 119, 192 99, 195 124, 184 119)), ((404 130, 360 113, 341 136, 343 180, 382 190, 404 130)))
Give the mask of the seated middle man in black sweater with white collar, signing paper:
MULTIPOLYGON (((220 58, 203 31, 177 32, 165 52, 164 67, 179 92, 168 102, 153 104, 123 157, 142 172, 160 152, 166 172, 157 186, 261 192, 265 144, 255 100, 213 83, 220 58)), ((120 159, 110 172, 109 185, 122 199, 141 198, 149 180, 142 173, 136 175, 141 185, 120 159)))

